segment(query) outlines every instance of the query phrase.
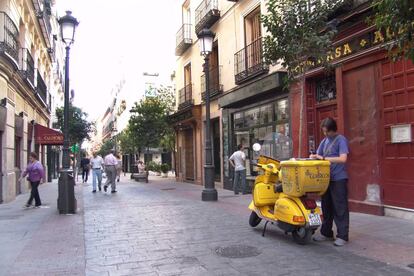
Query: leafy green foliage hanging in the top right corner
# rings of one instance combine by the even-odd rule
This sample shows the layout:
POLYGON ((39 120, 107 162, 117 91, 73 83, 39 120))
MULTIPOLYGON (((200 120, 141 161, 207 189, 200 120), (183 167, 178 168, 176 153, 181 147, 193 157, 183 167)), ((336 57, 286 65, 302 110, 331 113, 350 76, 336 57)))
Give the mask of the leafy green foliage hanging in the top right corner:
POLYGON ((374 0, 371 20, 378 30, 392 39, 385 43, 393 60, 401 57, 414 62, 414 1, 374 0))

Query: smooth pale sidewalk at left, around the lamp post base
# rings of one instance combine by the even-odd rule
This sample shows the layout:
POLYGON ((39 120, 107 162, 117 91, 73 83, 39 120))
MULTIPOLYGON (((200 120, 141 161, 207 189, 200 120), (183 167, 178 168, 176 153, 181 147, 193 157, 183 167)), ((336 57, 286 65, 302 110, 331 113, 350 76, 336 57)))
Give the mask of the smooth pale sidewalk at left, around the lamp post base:
POLYGON ((42 208, 24 209, 29 194, 0 205, 0 275, 84 275, 82 185, 76 215, 59 215, 57 182, 39 188, 42 208))

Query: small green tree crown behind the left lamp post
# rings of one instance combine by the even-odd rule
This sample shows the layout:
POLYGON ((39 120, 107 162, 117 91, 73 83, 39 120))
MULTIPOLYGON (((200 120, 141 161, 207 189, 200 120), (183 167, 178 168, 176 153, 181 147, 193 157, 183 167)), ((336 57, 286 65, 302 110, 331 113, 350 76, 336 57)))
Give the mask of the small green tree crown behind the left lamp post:
MULTIPOLYGON (((63 132, 64 108, 56 109, 57 125, 63 132)), ((88 114, 79 107, 69 106, 69 142, 70 144, 82 144, 84 140, 90 140, 90 133, 93 131, 93 124, 88 121, 88 114)))

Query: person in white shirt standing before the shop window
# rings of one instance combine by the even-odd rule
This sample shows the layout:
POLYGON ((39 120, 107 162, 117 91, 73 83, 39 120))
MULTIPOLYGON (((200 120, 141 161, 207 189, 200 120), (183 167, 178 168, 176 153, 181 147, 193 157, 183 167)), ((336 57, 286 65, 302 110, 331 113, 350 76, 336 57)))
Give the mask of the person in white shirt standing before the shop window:
POLYGON ((247 194, 246 191, 246 154, 243 152, 243 145, 237 146, 237 151, 234 152, 229 162, 234 168, 233 191, 234 194, 239 194, 239 184, 241 182, 242 194, 247 194))

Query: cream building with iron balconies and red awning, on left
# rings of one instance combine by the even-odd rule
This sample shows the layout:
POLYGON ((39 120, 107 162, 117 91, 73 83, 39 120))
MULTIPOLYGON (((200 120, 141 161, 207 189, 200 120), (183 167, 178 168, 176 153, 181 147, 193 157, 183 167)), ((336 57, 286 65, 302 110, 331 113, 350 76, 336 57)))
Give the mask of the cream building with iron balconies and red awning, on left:
POLYGON ((47 154, 63 142, 49 128, 63 92, 55 14, 50 0, 0 2, 0 203, 28 190, 18 179, 31 151, 39 154, 48 175, 58 167, 47 154))

